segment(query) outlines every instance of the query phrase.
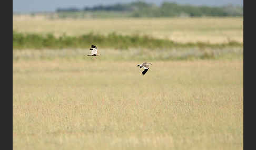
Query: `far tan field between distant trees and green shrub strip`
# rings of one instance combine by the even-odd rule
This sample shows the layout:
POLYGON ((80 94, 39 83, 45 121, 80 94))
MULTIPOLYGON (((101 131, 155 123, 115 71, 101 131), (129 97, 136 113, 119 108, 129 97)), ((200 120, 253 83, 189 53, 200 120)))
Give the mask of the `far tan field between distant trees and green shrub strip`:
POLYGON ((13 30, 22 33, 150 35, 177 42, 243 42, 243 17, 47 19, 13 15, 13 30))

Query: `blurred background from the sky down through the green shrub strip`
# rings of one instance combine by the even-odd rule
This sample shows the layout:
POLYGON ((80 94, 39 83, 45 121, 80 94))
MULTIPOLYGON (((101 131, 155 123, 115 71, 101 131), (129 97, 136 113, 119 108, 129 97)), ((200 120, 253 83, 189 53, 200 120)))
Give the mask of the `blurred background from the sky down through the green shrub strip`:
POLYGON ((243 3, 13 1, 14 49, 87 48, 92 43, 116 49, 241 47, 243 3))

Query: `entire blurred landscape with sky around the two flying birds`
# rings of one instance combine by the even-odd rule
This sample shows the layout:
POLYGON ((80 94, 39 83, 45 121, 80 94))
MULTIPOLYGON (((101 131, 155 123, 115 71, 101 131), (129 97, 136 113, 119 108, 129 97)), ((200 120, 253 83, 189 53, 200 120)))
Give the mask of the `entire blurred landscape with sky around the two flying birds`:
POLYGON ((243 1, 13 0, 13 149, 243 149, 243 1))

